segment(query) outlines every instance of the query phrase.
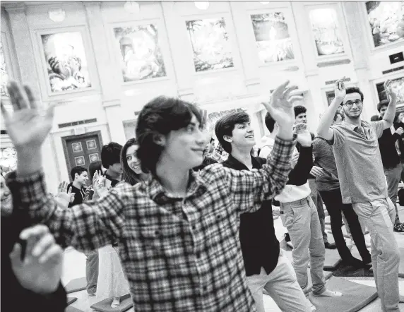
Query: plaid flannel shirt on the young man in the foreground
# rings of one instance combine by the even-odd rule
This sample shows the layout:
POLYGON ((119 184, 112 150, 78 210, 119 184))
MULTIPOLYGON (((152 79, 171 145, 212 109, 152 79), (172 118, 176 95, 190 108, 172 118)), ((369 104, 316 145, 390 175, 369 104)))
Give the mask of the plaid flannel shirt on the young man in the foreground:
POLYGON ((118 239, 136 311, 251 312, 256 308, 246 285, 239 215, 283 190, 294 146, 276 138, 262 169, 212 164, 191 170, 185 198, 171 197, 152 179, 61 209, 47 196, 42 172, 9 176, 8 186, 61 246, 88 251, 118 239))

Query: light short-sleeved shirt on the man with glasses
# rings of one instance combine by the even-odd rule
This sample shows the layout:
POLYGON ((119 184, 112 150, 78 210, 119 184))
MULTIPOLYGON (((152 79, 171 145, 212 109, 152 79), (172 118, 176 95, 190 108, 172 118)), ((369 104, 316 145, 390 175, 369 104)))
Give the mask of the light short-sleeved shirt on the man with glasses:
POLYGON ((332 142, 343 203, 364 203, 387 198, 386 177, 381 162, 378 138, 383 121, 362 121, 364 134, 346 121, 331 126, 332 142))

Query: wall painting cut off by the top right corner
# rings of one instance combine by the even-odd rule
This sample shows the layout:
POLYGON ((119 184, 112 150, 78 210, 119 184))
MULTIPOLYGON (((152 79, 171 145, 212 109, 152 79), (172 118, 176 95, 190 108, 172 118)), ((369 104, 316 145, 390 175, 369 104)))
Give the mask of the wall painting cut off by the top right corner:
POLYGON ((374 47, 404 40, 404 1, 367 1, 366 11, 374 47))

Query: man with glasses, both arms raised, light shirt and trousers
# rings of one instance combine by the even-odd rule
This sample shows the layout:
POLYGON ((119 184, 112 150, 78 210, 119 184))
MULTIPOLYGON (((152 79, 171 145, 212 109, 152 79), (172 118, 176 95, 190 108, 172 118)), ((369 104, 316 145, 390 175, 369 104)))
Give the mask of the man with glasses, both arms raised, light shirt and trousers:
POLYGON ((361 119, 363 93, 346 88, 343 79, 335 84, 335 98, 320 120, 319 136, 333 145, 343 203, 352 208, 372 238, 372 265, 377 292, 383 311, 400 311, 398 302, 398 268, 400 253, 393 234, 396 211, 388 198, 386 178, 381 162, 378 138, 393 125, 397 95, 386 81, 388 107, 380 121, 361 119), (333 126, 333 117, 343 105, 345 120, 333 126))

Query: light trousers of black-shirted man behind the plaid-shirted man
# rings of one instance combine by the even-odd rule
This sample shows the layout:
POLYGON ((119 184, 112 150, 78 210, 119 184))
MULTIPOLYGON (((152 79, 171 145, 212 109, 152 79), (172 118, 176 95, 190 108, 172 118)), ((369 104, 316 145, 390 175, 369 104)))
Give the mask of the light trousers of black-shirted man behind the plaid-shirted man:
POLYGON ((257 312, 265 312, 263 308, 263 289, 266 289, 275 304, 285 312, 308 312, 310 306, 306 296, 297 283, 296 273, 289 259, 279 253, 278 265, 269 274, 261 268, 260 274, 247 276, 247 285, 256 302, 257 312))

